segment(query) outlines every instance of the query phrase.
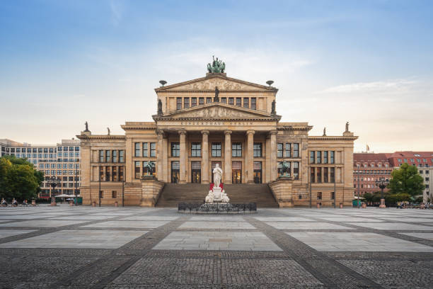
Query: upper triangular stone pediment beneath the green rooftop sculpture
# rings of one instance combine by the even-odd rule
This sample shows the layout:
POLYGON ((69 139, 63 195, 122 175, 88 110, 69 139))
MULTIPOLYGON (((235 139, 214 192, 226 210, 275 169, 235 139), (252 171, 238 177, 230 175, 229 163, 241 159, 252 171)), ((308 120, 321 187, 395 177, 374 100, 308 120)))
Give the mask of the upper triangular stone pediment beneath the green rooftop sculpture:
POLYGON ((163 86, 155 89, 155 91, 214 91, 215 87, 218 87, 220 91, 277 91, 272 86, 253 84, 248 81, 225 77, 224 74, 208 74, 207 77, 163 86))

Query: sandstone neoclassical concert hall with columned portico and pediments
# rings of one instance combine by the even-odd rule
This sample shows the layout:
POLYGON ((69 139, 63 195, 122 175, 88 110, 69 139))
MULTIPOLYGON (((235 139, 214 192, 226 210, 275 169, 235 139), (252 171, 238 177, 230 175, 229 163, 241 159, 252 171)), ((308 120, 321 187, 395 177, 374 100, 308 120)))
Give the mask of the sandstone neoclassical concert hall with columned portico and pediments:
POLYGON ((199 79, 161 81, 153 122, 126 122, 125 135, 93 135, 86 126, 77 136, 84 204, 154 206, 176 186, 191 196, 195 183, 205 193, 198 184, 212 183, 217 164, 224 185, 242 191, 267 184, 279 206, 352 203, 357 137, 348 123, 340 136, 308 135, 308 123, 280 121, 272 81, 233 79, 219 64, 208 64, 199 79))

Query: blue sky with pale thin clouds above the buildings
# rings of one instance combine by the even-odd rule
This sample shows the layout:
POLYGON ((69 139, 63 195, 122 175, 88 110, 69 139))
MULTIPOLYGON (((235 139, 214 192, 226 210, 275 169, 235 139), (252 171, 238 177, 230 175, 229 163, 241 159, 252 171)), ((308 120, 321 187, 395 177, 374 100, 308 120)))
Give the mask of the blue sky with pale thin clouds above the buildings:
POLYGON ((0 1, 0 138, 151 121, 158 81, 275 81, 283 122, 433 151, 433 1, 0 1))

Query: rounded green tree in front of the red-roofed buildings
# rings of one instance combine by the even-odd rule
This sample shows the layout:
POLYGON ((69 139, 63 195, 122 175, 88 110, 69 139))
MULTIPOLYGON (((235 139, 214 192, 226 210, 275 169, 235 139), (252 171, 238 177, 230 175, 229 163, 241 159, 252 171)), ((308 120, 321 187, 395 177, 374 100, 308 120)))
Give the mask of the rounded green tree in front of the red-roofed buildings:
POLYGON ((391 173, 391 181, 389 181, 389 192, 391 194, 408 193, 410 196, 418 196, 424 190, 422 176, 418 174, 416 166, 402 164, 400 169, 396 169, 391 173))

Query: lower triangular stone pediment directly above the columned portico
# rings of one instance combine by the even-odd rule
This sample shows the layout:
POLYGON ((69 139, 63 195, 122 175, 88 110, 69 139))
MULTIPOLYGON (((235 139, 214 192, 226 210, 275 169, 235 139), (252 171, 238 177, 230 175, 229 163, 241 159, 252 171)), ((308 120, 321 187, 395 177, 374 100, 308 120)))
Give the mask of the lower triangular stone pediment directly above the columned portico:
POLYGON ((279 120, 279 115, 271 115, 262 111, 254 111, 248 108, 240 108, 225 103, 209 103, 204 106, 195 106, 180 111, 154 115, 155 120, 161 119, 262 119, 279 120))

